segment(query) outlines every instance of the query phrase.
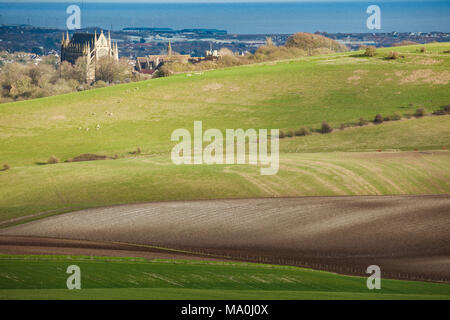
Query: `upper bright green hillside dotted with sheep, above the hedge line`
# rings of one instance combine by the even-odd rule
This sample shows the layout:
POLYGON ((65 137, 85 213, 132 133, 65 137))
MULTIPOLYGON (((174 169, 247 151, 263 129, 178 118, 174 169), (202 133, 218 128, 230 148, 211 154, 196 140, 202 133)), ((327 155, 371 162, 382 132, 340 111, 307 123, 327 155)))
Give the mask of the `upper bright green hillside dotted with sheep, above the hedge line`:
POLYGON ((192 128, 194 120, 203 120, 204 129, 286 130, 318 127, 324 120, 339 127, 418 107, 432 111, 450 103, 450 54, 431 50, 442 52, 450 44, 428 48, 424 54, 414 46, 398 48, 406 57, 393 61, 382 50, 374 58, 352 52, 3 104, 0 161, 19 166, 53 154, 125 155, 137 146, 167 152, 172 131, 192 128))

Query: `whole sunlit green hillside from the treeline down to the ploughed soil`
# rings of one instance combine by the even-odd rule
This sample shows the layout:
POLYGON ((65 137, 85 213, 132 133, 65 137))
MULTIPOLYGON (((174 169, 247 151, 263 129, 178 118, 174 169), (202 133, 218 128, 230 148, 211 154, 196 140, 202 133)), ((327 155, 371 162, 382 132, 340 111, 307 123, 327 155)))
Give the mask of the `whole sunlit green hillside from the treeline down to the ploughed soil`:
POLYGON ((450 44, 419 47, 395 48, 398 60, 385 59, 392 49, 339 53, 0 105, 0 165, 11 167, 0 171, 0 221, 155 200, 449 193, 448 115, 283 139, 273 177, 251 166, 177 167, 169 157, 173 130, 192 131, 194 120, 204 130, 295 130, 437 110, 450 103, 450 44), (371 153, 416 149, 440 152, 371 153), (119 159, 43 165, 83 153, 119 159))

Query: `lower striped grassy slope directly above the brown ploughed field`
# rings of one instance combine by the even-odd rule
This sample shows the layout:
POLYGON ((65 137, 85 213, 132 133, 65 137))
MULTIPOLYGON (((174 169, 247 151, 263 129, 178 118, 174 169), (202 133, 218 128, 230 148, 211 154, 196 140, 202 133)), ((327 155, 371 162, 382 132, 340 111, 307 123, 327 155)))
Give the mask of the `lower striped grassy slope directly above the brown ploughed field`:
POLYGON ((168 156, 12 168, 0 172, 0 221, 146 201, 450 191, 450 152, 280 157, 275 176, 257 166, 175 166, 168 156))

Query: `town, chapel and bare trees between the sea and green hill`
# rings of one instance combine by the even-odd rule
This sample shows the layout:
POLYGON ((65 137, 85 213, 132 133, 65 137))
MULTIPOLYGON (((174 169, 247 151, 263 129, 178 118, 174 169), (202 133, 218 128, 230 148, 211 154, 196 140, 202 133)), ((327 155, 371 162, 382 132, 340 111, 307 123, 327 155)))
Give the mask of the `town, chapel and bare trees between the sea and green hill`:
MULTIPOLYGON (((176 73, 364 49, 448 42, 450 34, 228 34, 216 29, 0 27, 0 103, 176 73)), ((422 50, 426 50, 421 48, 422 50)), ((419 50, 419 49, 417 49, 419 50)), ((447 53, 447 52, 446 52, 447 53)), ((395 50, 389 59, 400 57, 395 50)))

